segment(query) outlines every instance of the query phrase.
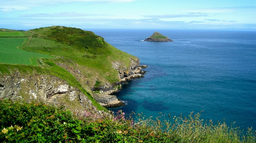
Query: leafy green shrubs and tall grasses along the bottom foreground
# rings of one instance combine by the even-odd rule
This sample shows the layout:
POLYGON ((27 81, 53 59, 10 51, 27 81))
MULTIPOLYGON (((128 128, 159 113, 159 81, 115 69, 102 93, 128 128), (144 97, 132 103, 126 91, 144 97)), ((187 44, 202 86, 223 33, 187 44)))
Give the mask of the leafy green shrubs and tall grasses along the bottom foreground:
MULTIPOLYGON (((0 100, 1 142, 70 142, 70 143, 253 143, 251 128, 241 135, 239 128, 204 122, 200 114, 173 121, 159 116, 156 120, 141 114, 134 121, 122 111, 111 119, 102 119, 90 110, 72 113, 65 107, 56 108, 33 101, 0 100)), ((169 117, 168 117, 169 119, 169 117)))

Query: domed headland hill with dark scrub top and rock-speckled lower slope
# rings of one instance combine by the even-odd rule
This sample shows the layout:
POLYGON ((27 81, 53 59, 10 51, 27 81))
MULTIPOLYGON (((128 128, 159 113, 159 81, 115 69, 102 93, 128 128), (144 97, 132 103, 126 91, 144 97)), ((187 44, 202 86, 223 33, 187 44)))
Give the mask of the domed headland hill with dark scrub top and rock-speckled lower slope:
POLYGON ((56 56, 54 62, 91 91, 95 87, 101 88, 94 90, 117 90, 114 87, 120 86, 122 78, 140 66, 137 57, 116 49, 90 31, 60 26, 30 31, 34 36, 25 50, 56 56))

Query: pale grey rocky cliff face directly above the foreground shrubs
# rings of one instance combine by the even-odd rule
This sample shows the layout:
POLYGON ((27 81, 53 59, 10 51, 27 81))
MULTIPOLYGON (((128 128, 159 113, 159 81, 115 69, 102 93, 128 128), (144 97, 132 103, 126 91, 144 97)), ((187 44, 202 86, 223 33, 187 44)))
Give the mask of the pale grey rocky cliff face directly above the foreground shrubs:
POLYGON ((0 76, 0 98, 40 100, 51 104, 63 104, 81 110, 90 108, 99 114, 92 102, 76 87, 58 77, 49 75, 21 75, 14 72, 10 76, 0 76))

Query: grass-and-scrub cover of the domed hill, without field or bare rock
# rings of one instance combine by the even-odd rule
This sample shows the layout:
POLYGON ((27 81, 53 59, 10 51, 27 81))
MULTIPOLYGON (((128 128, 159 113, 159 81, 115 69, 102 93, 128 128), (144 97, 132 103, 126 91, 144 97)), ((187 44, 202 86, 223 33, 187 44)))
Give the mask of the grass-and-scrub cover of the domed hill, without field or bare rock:
POLYGON ((89 79, 89 84, 98 81, 113 83, 119 81, 118 71, 112 68, 112 61, 120 61, 130 66, 130 58, 136 57, 114 48, 104 38, 93 32, 70 27, 46 27, 31 30, 34 35, 25 50, 52 56, 55 62, 68 64, 67 60, 78 64, 79 70, 89 79))

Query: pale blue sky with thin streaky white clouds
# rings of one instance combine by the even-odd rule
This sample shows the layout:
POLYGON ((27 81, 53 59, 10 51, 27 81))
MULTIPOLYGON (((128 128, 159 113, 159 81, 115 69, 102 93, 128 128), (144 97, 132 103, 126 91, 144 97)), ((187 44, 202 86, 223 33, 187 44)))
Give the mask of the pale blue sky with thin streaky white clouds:
POLYGON ((256 30, 256 0, 0 0, 0 28, 256 30))

